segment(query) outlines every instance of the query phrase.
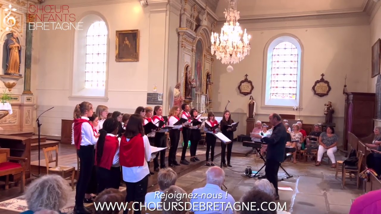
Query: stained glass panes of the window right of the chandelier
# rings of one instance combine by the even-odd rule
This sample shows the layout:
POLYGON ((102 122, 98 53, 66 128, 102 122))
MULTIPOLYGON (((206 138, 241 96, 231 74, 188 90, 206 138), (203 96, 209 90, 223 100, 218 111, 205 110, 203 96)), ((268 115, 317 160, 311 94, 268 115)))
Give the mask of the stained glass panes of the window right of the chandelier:
POLYGON ((298 49, 281 42, 272 51, 270 99, 296 99, 298 49))

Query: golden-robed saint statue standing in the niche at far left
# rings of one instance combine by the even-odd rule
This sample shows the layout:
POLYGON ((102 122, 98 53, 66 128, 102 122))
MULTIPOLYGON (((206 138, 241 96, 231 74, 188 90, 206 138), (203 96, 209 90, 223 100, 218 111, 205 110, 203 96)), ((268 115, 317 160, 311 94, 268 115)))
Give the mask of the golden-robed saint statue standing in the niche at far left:
POLYGON ((17 39, 17 33, 12 32, 12 36, 5 40, 6 46, 6 71, 11 75, 21 76, 21 45, 17 39))

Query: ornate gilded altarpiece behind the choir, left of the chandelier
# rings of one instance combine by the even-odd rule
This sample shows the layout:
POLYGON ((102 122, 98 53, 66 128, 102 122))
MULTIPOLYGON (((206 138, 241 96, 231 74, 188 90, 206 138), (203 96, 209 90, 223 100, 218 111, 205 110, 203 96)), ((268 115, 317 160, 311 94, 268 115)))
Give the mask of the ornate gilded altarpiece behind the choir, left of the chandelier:
POLYGON ((184 102, 191 108, 197 108, 200 113, 212 111, 212 85, 207 94, 207 73, 211 75, 213 82, 213 61, 211 54, 211 26, 208 21, 208 13, 205 10, 198 10, 195 4, 193 7, 187 1, 181 8, 181 24, 179 33, 179 53, 178 53, 178 82, 181 83, 182 97, 184 102), (192 79, 198 82, 195 88, 194 97, 187 99, 185 94, 186 71, 191 69, 192 79), (207 98, 207 96, 209 96, 207 98))

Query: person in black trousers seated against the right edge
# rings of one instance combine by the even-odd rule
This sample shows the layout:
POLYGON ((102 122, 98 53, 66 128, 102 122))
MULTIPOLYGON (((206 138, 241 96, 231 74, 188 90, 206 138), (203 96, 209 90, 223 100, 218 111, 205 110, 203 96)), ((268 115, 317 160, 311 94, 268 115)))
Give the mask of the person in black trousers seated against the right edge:
POLYGON ((372 144, 365 144, 372 149, 372 152, 367 156, 367 166, 373 169, 378 176, 381 175, 381 127, 376 126, 373 130, 375 138, 372 144))

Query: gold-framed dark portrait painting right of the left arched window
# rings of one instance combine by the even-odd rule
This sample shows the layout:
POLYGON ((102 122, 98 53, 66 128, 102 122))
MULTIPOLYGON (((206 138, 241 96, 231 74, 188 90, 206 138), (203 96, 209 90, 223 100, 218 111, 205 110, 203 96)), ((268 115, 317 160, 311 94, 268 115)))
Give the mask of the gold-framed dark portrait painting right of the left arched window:
POLYGON ((139 30, 117 30, 115 39, 115 61, 139 61, 139 30))

